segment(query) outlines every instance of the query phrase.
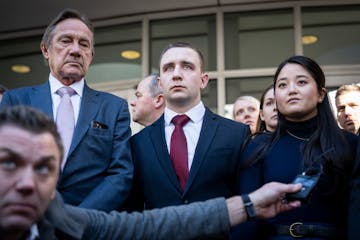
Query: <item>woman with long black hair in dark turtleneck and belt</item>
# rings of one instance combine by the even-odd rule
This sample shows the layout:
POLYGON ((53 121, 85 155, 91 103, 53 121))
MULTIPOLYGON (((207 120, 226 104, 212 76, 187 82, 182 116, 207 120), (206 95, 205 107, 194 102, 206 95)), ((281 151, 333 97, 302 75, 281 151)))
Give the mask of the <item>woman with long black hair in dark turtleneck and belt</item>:
MULTIPOLYGON (((301 208, 259 223, 262 239, 346 239, 349 178, 357 138, 341 130, 332 113, 320 66, 304 56, 282 62, 274 76, 278 127, 244 149, 239 189, 304 174, 318 181, 301 208)), ((304 183, 306 185, 306 183, 304 183)), ((286 201, 286 198, 284 198, 286 201)), ((259 238, 259 236, 257 236, 259 238)))

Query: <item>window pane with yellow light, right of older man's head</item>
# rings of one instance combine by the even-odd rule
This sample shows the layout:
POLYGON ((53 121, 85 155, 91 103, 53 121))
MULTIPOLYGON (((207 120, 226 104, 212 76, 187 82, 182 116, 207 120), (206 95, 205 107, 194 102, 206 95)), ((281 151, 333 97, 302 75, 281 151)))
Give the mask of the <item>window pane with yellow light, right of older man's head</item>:
POLYGON ((95 29, 95 56, 88 83, 141 78, 141 23, 95 29), (123 56, 130 51, 128 56, 123 56))

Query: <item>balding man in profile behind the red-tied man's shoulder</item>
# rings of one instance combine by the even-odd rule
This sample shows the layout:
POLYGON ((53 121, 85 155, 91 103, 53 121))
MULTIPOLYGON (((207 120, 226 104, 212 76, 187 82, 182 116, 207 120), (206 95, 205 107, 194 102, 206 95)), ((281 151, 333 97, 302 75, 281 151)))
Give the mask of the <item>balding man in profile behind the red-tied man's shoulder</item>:
POLYGON ((157 120, 164 112, 164 94, 158 84, 158 75, 151 74, 139 82, 135 99, 130 102, 132 120, 146 127, 157 120))

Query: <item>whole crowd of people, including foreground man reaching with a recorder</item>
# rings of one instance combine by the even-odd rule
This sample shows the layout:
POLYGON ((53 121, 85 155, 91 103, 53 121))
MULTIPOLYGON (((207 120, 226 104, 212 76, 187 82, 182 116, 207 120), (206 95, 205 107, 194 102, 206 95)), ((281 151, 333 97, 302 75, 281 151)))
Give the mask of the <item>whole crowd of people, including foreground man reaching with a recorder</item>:
POLYGON ((231 120, 202 102, 202 53, 171 43, 136 87, 131 136, 127 102, 86 84, 86 16, 62 11, 40 47, 49 79, 0 103, 2 239, 360 237, 358 85, 335 118, 321 67, 292 56, 231 120))

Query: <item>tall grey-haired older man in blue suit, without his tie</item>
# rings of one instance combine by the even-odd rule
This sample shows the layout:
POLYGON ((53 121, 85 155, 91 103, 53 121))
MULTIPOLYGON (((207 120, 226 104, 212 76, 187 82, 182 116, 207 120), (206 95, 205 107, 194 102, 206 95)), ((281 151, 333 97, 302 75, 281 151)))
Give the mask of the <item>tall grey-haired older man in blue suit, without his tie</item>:
POLYGON ((49 80, 7 91, 0 106, 30 105, 56 119, 61 101, 58 89, 73 89, 75 128, 57 189, 66 203, 110 211, 121 207, 131 187, 130 114, 125 100, 95 91, 85 82, 94 55, 93 34, 84 15, 62 11, 40 45, 50 67, 49 80))

